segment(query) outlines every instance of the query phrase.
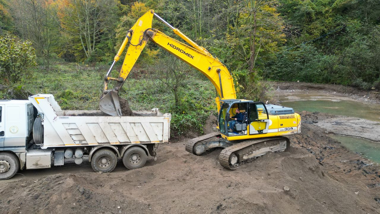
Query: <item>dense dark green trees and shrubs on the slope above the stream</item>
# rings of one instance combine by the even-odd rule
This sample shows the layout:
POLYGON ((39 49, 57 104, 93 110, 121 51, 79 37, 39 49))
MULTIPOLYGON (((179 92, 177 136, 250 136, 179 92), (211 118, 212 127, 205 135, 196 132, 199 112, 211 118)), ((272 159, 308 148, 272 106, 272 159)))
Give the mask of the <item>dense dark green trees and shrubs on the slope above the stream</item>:
POLYGON ((266 63, 265 77, 362 89, 380 78, 378 1, 280 2, 288 42, 275 60, 266 63))

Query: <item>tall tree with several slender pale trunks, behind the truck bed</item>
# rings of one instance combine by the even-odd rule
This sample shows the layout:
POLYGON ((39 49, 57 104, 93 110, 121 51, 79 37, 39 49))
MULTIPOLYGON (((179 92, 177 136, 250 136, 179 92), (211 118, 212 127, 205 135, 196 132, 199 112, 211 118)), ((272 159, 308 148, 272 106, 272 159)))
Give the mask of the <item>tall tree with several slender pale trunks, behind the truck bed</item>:
POLYGON ((58 15, 62 29, 77 41, 75 48, 89 59, 114 35, 116 11, 116 0, 62 0, 58 15))

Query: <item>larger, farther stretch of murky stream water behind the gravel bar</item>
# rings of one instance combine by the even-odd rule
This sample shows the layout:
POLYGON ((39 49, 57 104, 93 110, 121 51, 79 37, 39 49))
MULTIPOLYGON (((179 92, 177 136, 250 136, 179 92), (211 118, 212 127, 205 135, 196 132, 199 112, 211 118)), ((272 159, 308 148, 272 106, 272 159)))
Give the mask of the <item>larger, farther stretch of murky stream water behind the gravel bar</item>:
POLYGON ((323 112, 380 122, 380 105, 348 100, 345 97, 318 94, 293 94, 279 97, 283 106, 297 112, 323 112))

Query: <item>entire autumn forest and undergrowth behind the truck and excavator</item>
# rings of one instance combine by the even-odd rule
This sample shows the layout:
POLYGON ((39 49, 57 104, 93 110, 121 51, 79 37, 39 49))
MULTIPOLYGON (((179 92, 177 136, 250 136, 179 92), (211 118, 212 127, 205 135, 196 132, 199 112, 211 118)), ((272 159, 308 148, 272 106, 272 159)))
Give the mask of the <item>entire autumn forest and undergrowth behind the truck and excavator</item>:
MULTIPOLYGON (((238 98, 266 99, 267 80, 380 89, 378 0, 0 0, 0 97, 52 93, 62 109, 97 109, 114 55, 149 9, 228 65, 238 98)), ((120 96, 173 113, 173 135, 202 132, 216 113, 211 83, 152 43, 120 96)))

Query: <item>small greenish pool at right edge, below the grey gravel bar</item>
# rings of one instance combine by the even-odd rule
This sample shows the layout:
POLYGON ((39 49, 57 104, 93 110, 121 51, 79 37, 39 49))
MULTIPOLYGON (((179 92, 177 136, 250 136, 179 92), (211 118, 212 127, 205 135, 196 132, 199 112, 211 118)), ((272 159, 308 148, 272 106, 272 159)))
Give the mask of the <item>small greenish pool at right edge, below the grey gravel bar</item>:
POLYGON ((380 143, 367 139, 340 136, 335 134, 329 135, 332 139, 341 142, 348 149, 360 153, 363 157, 380 163, 380 143))

